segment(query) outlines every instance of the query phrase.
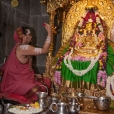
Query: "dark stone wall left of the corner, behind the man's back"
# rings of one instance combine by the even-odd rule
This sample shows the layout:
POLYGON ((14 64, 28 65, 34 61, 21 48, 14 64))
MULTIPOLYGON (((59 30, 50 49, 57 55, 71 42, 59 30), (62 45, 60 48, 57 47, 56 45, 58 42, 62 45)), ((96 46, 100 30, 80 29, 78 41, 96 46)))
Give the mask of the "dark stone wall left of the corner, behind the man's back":
POLYGON ((14 8, 11 0, 1 0, 1 33, 0 37, 0 65, 5 56, 8 56, 15 42, 13 40, 14 30, 19 26, 29 26, 30 1, 18 0, 19 5, 14 8), (25 3, 27 2, 27 4, 25 3))

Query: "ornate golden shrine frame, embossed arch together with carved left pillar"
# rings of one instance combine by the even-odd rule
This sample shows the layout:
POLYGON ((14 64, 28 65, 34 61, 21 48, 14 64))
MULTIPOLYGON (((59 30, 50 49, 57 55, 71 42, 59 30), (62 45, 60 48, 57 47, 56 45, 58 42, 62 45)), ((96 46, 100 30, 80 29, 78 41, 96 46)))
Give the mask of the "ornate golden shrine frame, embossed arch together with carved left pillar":
POLYGON ((61 50, 65 47, 74 32, 76 22, 80 19, 81 15, 85 12, 87 5, 94 5, 98 7, 98 11, 103 20, 105 20, 108 27, 108 38, 110 38, 110 30, 113 25, 114 18, 114 5, 112 0, 40 0, 40 3, 47 6, 49 13, 49 23, 52 26, 52 42, 49 49, 46 62, 46 71, 44 76, 50 77, 53 81, 52 53, 54 51, 54 36, 57 34, 57 26, 55 27, 55 15, 57 16, 57 25, 62 23, 62 41, 61 48, 59 49, 56 57, 61 56, 61 50), (77 3, 78 2, 78 3, 77 3), (73 7, 72 7, 73 6, 73 7), (71 8, 72 7, 72 8, 71 8), (68 13, 68 15, 67 15, 68 13), (70 29, 69 29, 70 28, 70 29))

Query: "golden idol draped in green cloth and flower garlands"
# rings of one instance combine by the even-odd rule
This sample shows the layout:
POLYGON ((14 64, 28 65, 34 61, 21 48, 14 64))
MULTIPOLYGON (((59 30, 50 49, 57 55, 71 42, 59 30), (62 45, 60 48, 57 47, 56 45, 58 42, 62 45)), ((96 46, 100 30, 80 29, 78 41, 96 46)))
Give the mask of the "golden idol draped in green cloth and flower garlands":
MULTIPOLYGON (((83 0, 81 6, 82 3, 83 0)), ((76 6, 81 7, 78 3, 76 6)), ((105 90, 107 79, 113 77, 114 72, 114 43, 110 40, 111 37, 108 33, 108 29, 112 25, 109 27, 108 20, 103 19, 97 3, 96 5, 83 4, 83 7, 85 7, 85 13, 81 14, 76 25, 72 24, 74 21, 69 22, 69 28, 71 24, 74 26, 73 34, 68 39, 68 33, 65 33, 66 36, 64 35, 62 40, 65 45, 61 46, 62 48, 56 55, 54 81, 57 85, 68 88, 94 89, 95 91, 100 88, 105 90)), ((71 14, 71 10, 68 14, 71 14)), ((69 17, 72 18, 72 15, 69 17)), ((67 26, 64 26, 65 32, 67 26)))

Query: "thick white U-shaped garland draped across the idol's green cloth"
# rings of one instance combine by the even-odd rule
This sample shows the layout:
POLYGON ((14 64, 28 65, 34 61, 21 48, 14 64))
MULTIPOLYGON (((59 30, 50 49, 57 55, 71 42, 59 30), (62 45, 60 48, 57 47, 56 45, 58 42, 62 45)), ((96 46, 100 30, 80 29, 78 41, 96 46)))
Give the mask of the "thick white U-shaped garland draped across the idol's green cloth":
POLYGON ((100 53, 99 53, 95 59, 92 58, 90 60, 91 61, 90 65, 88 66, 87 69, 85 69, 85 70, 75 70, 72 67, 72 64, 71 64, 71 55, 72 55, 72 53, 73 53, 73 48, 71 49, 70 54, 65 56, 64 63, 77 76, 82 76, 82 75, 86 74, 88 71, 90 71, 94 67, 95 63, 99 60, 99 57, 100 57, 100 53), (67 63, 67 59, 68 59, 68 63, 67 63))

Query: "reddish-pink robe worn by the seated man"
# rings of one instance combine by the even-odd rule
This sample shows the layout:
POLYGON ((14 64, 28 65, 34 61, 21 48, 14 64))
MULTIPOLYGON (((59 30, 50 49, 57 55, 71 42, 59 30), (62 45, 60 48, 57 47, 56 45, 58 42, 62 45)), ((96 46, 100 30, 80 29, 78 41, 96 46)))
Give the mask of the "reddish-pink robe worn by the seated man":
MULTIPOLYGON (((40 80, 34 80, 34 71, 30 70, 29 62, 22 64, 17 59, 15 50, 18 45, 19 44, 15 45, 5 64, 2 66, 4 74, 0 85, 1 93, 5 93, 5 95, 8 94, 11 97, 20 96, 21 99, 26 100, 26 98, 22 97, 25 96, 30 89, 44 84, 40 80)), ((47 88, 50 88, 50 79, 44 78, 44 82, 47 88)), ((43 90, 45 89, 43 88, 43 90)), ((35 95, 33 95, 33 97, 34 96, 35 95)), ((37 100, 36 96, 32 99, 37 100)))

